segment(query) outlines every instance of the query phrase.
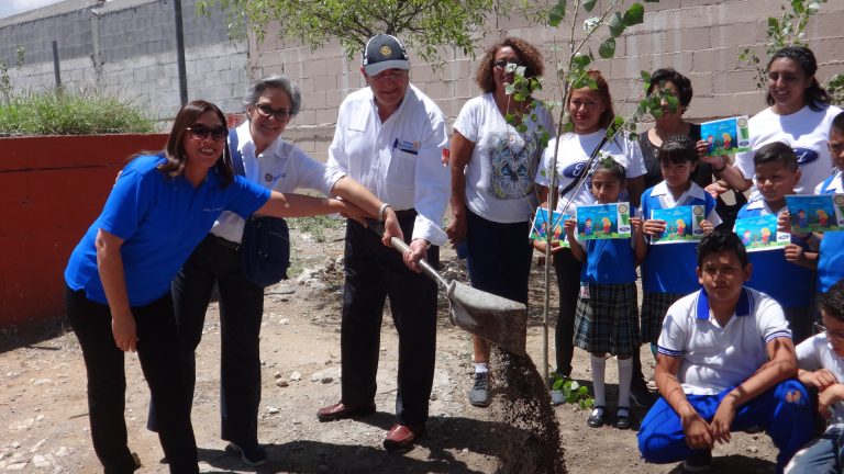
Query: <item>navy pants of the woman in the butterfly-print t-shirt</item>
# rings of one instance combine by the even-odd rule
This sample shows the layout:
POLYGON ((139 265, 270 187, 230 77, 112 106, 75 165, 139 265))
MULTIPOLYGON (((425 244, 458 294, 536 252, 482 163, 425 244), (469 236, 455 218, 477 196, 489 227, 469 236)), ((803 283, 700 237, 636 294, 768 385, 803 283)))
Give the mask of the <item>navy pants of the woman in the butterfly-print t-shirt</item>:
POLYGON ((466 267, 471 285, 528 304, 533 247, 531 223, 497 223, 466 210, 466 267))

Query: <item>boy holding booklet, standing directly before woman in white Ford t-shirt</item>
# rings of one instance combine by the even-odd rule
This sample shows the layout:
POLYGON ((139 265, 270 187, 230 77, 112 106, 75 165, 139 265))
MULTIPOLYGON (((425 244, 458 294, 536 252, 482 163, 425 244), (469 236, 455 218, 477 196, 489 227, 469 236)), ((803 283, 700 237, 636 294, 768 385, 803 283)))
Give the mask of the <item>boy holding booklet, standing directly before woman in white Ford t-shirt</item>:
MULTIPOLYGON (((758 217, 786 212, 786 195, 795 194, 800 181, 797 155, 781 142, 769 143, 753 157, 759 195, 738 211, 737 218, 758 217)), ((747 287, 758 290, 779 303, 786 314, 791 339, 800 343, 812 335, 812 300, 815 262, 801 239, 792 237, 784 249, 748 253, 753 275, 747 287)))

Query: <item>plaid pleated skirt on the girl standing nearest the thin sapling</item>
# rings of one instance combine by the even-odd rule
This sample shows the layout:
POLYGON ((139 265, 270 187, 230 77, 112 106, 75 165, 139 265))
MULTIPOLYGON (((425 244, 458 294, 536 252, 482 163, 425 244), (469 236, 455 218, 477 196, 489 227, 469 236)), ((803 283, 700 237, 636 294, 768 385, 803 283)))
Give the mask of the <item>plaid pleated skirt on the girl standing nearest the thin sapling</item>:
POLYGON ((635 283, 589 284, 589 297, 577 300, 575 346, 621 357, 638 350, 635 283))

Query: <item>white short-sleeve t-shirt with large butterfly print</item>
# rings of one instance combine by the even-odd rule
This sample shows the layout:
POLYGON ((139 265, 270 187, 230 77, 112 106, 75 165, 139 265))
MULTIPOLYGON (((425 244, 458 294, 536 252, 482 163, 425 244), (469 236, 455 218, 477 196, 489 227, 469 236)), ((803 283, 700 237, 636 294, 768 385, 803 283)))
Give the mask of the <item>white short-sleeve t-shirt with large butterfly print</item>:
POLYGON ((465 171, 466 205, 487 221, 529 221, 536 207, 540 142, 543 133, 554 135, 554 121, 546 109, 536 108, 523 124, 524 133, 508 124, 492 93, 470 99, 454 122, 454 129, 475 144, 465 171))

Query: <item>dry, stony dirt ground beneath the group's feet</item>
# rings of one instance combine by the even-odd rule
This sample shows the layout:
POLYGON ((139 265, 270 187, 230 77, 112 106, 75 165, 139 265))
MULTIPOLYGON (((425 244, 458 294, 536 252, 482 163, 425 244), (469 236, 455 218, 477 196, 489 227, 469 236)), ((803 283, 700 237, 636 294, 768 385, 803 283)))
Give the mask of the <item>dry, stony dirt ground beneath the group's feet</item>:
MULTIPOLYGON (((520 360, 496 352, 495 398, 489 408, 469 405, 471 341, 448 321, 441 301, 431 419, 419 444, 403 454, 381 447, 395 421, 397 338, 385 312, 376 403, 378 411, 356 420, 319 422, 316 409, 340 397, 340 301, 343 229, 318 234, 293 228, 293 278, 266 291, 262 328, 263 398, 258 437, 268 462, 245 467, 220 440, 220 324, 216 304, 206 320, 197 357, 193 427, 206 473, 681 473, 678 464, 646 464, 635 430, 587 427, 588 413, 552 406, 542 377, 543 268, 531 280, 528 352, 520 360), (297 280, 300 275, 300 281, 297 280), (554 424, 556 421, 556 424, 554 424), (558 443, 556 442, 558 441, 558 443)), ((443 249, 444 272, 463 279, 463 262, 443 249)), ((554 286, 554 284, 552 285, 554 286)), ((553 290, 552 302, 556 302, 553 290)), ((556 304, 553 304, 556 311, 556 304)), ((554 318, 552 318, 554 319, 554 318)), ((86 376, 73 332, 58 323, 0 331, 0 472, 101 472, 88 428, 86 376)), ((551 354, 553 359, 553 327, 551 354)), ((643 347, 646 375, 653 358, 643 347)), ((576 350, 573 376, 589 384, 589 362, 576 350)), ((607 366, 609 413, 618 398, 617 365, 607 366)), ((166 473, 157 437, 147 431, 148 391, 135 354, 126 357, 126 420, 130 448, 142 473, 166 473)), ((634 410, 641 420, 644 410, 634 410)), ((776 449, 764 433, 736 433, 714 450, 713 472, 771 473, 776 449)))

